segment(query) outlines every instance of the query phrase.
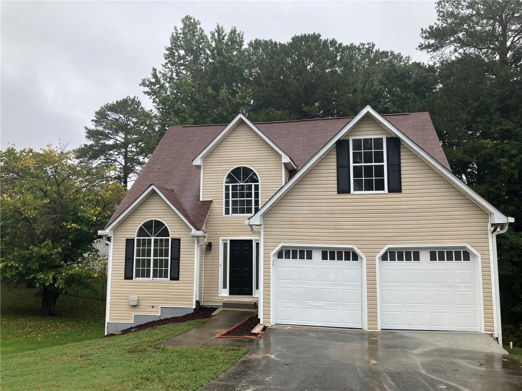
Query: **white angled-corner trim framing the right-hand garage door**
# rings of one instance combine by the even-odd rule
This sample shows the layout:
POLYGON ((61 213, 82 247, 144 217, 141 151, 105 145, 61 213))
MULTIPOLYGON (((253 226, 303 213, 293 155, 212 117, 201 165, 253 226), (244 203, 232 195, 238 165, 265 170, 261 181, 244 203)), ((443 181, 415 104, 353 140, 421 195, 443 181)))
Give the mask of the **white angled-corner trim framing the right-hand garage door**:
MULTIPOLYGON (((381 261, 381 256, 388 250, 414 250, 414 249, 429 249, 429 248, 452 248, 452 249, 466 249, 468 250, 474 257, 474 260, 478 262, 477 267, 477 282, 479 284, 479 331, 481 333, 485 333, 484 331, 484 293, 482 289, 482 258, 477 250, 468 245, 467 243, 431 243, 429 245, 387 245, 385 246, 381 252, 377 254, 375 257, 375 276, 377 283, 377 331, 381 331, 381 282, 380 282, 380 271, 379 271, 379 262, 381 261)), ((474 261, 472 259, 472 261, 474 261)))

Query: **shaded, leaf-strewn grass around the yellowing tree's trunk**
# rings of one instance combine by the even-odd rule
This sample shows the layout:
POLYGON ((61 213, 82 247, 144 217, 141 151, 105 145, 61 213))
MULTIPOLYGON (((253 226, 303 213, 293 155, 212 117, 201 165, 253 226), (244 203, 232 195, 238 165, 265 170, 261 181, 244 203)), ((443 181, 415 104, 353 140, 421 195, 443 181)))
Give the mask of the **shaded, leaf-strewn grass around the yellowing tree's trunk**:
POLYGON ((55 316, 39 315, 40 299, 33 289, 0 286, 0 354, 44 349, 101 338, 105 302, 62 295, 55 316))

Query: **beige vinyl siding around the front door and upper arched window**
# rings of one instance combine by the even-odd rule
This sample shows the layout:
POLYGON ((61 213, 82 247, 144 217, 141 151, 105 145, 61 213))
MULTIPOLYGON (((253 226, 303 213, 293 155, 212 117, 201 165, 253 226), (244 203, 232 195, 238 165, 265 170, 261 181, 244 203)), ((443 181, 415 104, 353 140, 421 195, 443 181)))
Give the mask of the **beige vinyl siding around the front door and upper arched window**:
POLYGON ((219 238, 257 238, 245 224, 247 217, 223 216, 223 180, 236 166, 253 168, 259 176, 263 205, 281 187, 281 155, 242 122, 205 156, 203 165, 203 199, 213 202, 205 223, 212 250, 204 254, 205 273, 199 282, 204 284, 201 303, 221 304, 225 298, 219 297, 219 238))

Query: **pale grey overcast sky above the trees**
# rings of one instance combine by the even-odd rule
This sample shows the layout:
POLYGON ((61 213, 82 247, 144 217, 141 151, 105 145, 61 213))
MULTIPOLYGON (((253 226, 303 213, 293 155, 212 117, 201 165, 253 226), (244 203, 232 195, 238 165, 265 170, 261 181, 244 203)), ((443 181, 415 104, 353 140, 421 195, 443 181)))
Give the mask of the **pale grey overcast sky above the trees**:
MULTIPOLYGON (((85 141, 103 104, 137 95, 163 61, 173 26, 189 14, 208 33, 216 23, 254 38, 288 41, 321 33, 343 43, 375 42, 414 60, 433 2, 6 2, 1 5, 2 148, 85 141)), ((371 102, 370 102, 371 103, 371 102)), ((235 113, 231 113, 231 119, 235 113)))

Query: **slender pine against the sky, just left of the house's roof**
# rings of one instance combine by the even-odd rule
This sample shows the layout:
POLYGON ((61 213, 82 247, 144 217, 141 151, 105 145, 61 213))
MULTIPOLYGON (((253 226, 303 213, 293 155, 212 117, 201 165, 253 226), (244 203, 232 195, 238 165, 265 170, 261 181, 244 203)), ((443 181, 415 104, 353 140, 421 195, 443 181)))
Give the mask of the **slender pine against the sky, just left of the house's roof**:
POLYGON ((76 150, 76 157, 84 163, 114 167, 114 179, 127 187, 159 142, 155 117, 137 97, 127 96, 100 107, 92 125, 85 128, 89 142, 76 150))

